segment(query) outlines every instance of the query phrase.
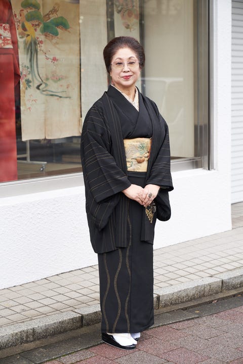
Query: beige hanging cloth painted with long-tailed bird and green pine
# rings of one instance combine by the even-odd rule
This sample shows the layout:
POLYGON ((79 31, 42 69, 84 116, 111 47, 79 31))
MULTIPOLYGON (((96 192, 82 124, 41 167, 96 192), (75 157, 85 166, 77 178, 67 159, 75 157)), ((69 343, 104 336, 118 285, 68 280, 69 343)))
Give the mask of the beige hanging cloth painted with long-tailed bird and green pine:
POLYGON ((22 140, 80 134, 79 4, 12 0, 21 71, 22 140))

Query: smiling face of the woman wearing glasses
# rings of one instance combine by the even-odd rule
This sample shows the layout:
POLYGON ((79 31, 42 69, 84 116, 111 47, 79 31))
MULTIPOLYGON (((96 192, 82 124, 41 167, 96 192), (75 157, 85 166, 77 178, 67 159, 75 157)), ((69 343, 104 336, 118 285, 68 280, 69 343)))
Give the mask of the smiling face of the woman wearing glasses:
POLYGON ((130 48, 120 48, 111 59, 110 76, 113 84, 120 91, 126 91, 135 87, 140 76, 139 63, 136 63, 134 67, 129 67, 127 62, 138 62, 136 53, 130 48), (115 65, 117 63, 124 63, 124 67, 117 69, 115 65))

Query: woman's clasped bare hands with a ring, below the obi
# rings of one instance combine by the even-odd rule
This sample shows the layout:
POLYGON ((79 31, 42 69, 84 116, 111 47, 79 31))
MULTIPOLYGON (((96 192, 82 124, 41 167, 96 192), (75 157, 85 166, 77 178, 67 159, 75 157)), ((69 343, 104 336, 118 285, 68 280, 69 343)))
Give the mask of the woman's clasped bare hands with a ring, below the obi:
POLYGON ((123 193, 131 200, 137 201, 140 205, 147 207, 155 199, 158 194, 159 186, 146 185, 144 188, 131 185, 123 193))

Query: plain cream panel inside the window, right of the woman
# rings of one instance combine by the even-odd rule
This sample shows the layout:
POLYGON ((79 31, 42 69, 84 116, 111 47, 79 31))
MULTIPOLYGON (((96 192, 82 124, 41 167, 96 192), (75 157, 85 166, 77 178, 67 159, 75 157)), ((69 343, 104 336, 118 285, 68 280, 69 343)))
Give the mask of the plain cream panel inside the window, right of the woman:
POLYGON ((193 0, 144 7, 146 94, 170 127, 171 154, 194 157, 193 0))

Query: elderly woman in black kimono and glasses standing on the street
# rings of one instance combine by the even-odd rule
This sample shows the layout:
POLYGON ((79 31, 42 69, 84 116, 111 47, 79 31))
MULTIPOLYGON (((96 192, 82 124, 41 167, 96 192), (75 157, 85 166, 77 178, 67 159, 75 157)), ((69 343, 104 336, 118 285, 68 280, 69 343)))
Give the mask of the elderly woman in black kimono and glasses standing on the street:
POLYGON ((153 325, 156 218, 170 218, 168 126, 135 86, 144 66, 140 43, 112 39, 104 61, 112 82, 91 107, 81 138, 86 211, 98 253, 102 340, 134 349, 153 325))

